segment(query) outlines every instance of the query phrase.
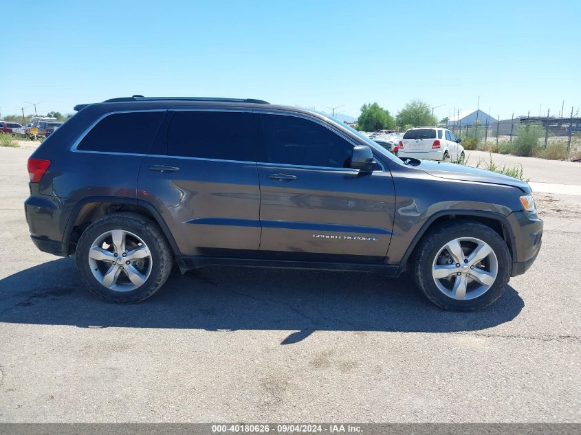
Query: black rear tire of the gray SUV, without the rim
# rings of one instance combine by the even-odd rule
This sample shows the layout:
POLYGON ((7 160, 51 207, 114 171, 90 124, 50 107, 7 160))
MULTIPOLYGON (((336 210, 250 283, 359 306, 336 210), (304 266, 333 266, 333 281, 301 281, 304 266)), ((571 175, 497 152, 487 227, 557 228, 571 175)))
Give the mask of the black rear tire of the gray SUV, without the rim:
POLYGON ((91 293, 109 302, 131 304, 149 298, 166 282, 173 265, 173 252, 157 223, 133 213, 105 216, 80 236, 76 249, 76 266, 91 293), (114 291, 102 285, 93 275, 89 265, 89 249, 101 234, 111 230, 124 230, 139 236, 151 253, 151 273, 145 282, 131 291, 114 291))

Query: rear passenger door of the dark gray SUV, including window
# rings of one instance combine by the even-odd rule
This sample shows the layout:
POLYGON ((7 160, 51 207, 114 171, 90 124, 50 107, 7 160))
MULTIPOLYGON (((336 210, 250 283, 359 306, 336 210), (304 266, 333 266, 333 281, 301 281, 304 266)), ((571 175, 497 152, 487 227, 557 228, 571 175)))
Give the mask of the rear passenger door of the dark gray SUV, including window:
POLYGON ((256 256, 260 190, 250 111, 169 111, 138 181, 184 256, 256 256))

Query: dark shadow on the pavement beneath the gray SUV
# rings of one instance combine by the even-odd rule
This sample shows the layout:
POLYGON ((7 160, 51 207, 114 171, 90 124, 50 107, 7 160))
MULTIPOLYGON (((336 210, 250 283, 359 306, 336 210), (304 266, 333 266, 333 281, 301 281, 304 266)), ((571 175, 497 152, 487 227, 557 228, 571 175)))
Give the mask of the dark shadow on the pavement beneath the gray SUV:
POLYGON ((406 278, 355 272, 206 267, 172 274, 152 298, 110 304, 60 258, 0 280, 0 322, 79 327, 285 330, 281 344, 313 331, 477 331, 514 319, 524 302, 508 286, 485 311, 433 306, 406 278))

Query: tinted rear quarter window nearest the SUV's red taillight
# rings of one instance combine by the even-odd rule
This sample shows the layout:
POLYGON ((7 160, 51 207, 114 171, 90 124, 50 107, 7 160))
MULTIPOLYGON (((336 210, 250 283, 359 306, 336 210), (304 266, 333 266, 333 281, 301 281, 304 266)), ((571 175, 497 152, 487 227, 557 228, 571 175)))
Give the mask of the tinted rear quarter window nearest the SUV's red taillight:
MULTIPOLYGON (((164 112, 113 113, 98 122, 78 144, 79 150, 146 154, 164 112)), ((60 124, 59 124, 60 125, 60 124)))

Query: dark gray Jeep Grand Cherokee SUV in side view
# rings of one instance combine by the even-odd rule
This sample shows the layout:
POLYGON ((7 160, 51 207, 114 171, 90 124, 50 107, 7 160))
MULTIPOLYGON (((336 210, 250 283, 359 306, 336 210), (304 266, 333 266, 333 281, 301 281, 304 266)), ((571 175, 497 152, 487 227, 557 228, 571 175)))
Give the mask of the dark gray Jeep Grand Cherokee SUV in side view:
POLYGON ((398 159, 342 122, 261 100, 75 108, 28 162, 32 241, 138 302, 173 264, 408 271, 444 309, 494 302, 541 244, 523 181, 398 159))

